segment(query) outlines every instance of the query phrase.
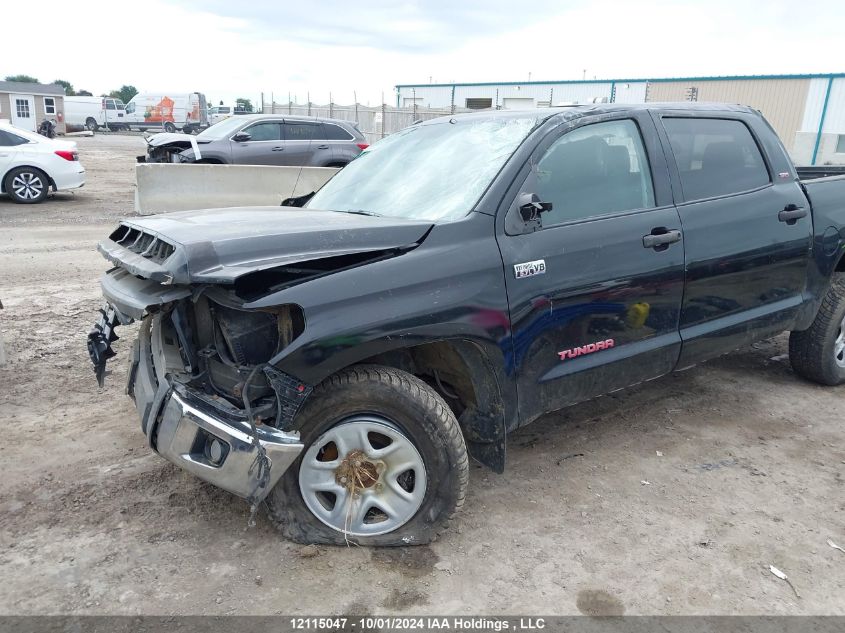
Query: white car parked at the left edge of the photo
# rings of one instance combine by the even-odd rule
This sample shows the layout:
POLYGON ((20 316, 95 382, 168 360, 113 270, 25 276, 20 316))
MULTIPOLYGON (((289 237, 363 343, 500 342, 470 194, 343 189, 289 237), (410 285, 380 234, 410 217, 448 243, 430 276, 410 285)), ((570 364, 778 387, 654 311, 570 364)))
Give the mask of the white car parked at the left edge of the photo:
POLYGON ((0 121, 0 192, 15 202, 41 202, 53 191, 85 184, 76 143, 49 139, 0 121))

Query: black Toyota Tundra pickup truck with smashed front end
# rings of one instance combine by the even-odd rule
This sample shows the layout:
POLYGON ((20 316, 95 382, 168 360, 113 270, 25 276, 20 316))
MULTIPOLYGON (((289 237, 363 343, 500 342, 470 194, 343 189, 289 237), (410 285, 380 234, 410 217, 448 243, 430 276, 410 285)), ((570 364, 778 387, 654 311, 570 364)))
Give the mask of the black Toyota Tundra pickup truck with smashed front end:
POLYGON ((845 382, 845 178, 746 107, 445 117, 287 202, 121 222, 88 347, 139 321, 151 448, 295 540, 428 542, 508 432, 779 332, 845 382))

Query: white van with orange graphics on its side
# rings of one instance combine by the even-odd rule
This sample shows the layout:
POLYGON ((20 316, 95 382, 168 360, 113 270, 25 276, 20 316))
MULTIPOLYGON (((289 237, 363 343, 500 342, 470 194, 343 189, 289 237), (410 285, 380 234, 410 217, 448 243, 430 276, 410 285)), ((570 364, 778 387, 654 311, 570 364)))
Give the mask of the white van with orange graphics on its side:
POLYGON ((126 104, 126 122, 138 130, 182 130, 190 134, 208 127, 208 107, 201 92, 145 92, 126 104))

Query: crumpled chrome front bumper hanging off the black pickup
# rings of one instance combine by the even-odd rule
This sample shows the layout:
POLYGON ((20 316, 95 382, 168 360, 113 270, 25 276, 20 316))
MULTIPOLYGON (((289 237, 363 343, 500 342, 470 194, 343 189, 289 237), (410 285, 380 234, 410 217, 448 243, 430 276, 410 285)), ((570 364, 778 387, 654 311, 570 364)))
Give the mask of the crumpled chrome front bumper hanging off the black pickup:
POLYGON ((127 393, 135 400, 150 446, 166 460, 239 497, 261 501, 302 451, 298 433, 258 425, 256 436, 270 460, 259 488, 258 448, 246 414, 173 380, 156 319, 141 323, 130 361, 127 393), (152 323, 151 323, 152 321, 152 323))

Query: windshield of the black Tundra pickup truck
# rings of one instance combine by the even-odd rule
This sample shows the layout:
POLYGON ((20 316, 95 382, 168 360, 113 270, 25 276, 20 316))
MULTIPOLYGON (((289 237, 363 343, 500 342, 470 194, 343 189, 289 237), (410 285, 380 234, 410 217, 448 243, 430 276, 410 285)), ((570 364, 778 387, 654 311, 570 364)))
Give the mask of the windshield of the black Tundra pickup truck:
POLYGON ((308 207, 432 222, 461 218, 537 123, 458 117, 406 128, 362 152, 308 207))

